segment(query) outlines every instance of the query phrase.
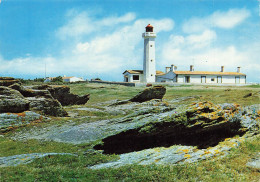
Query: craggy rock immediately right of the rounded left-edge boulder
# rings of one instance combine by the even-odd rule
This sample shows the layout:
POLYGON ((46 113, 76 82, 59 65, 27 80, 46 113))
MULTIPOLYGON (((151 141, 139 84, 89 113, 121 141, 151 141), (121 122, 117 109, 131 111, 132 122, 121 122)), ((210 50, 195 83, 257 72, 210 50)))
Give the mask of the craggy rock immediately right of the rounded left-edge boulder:
POLYGON ((32 111, 40 111, 43 114, 57 117, 68 116, 62 105, 56 99, 44 97, 28 97, 29 108, 32 111))

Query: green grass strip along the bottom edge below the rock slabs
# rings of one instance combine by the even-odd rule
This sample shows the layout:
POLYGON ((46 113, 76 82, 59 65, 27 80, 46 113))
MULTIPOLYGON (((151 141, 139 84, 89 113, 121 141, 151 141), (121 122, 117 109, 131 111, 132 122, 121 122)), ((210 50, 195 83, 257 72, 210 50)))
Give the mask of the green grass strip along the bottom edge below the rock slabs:
MULTIPOLYGON (((259 172, 246 167, 259 148, 259 135, 218 160, 185 165, 128 165, 91 170, 87 166, 114 160, 116 156, 88 154, 53 156, 31 164, 1 168, 2 181, 257 181, 259 172), (248 147, 250 145, 250 147, 248 147)), ((74 150, 74 149, 73 149, 74 150)))

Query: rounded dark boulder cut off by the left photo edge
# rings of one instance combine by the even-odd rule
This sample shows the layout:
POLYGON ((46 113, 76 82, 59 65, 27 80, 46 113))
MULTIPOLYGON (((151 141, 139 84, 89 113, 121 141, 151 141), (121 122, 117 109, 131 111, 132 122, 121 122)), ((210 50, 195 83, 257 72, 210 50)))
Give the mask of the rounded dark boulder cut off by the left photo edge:
POLYGON ((29 102, 22 94, 8 87, 0 86, 0 113, 23 112, 29 109, 29 102))

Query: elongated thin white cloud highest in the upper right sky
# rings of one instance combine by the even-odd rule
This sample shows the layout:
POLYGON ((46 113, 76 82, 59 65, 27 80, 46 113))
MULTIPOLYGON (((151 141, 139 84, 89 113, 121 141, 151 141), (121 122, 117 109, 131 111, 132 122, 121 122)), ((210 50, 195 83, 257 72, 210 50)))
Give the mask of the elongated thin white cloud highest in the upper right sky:
POLYGON ((182 29, 186 33, 200 32, 211 28, 231 29, 241 24, 249 16, 250 11, 247 9, 216 11, 207 17, 194 17, 187 20, 182 29))

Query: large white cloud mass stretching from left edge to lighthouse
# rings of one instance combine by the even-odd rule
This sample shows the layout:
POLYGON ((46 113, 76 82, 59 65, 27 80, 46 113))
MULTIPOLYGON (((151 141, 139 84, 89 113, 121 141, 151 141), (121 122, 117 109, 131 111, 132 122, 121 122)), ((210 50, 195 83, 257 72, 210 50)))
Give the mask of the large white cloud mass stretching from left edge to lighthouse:
POLYGON ((125 69, 142 69, 142 33, 145 26, 151 23, 156 33, 170 31, 174 27, 172 19, 136 19, 134 13, 95 19, 88 12, 72 11, 67 18, 67 22, 56 31, 65 45, 56 55, 6 60, 8 64, 0 71, 13 70, 20 75, 26 73, 43 77, 46 62, 47 76, 93 78, 100 75, 106 80, 107 77, 121 80, 125 69), (107 28, 109 31, 103 31, 107 28), (75 39, 72 41, 71 38, 75 39), (18 66, 12 69, 14 65, 18 66))

